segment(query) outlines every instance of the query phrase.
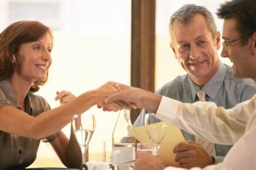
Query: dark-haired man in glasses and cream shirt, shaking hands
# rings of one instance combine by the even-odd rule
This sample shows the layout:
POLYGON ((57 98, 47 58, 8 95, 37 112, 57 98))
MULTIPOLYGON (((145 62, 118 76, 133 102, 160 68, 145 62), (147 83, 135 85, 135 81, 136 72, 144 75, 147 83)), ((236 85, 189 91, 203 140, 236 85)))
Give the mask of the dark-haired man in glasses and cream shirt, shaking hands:
MULTIPOLYGON (((224 19, 224 48, 221 56, 233 62, 232 75, 249 77, 256 82, 256 1, 226 2, 221 5, 217 15, 224 19)), ((226 145, 236 143, 223 163, 204 169, 255 169, 256 95, 234 108, 224 109, 211 102, 181 103, 124 84, 115 84, 115 87, 120 92, 109 96, 106 103, 124 100, 135 104, 133 108, 148 109, 161 120, 171 122, 200 138, 226 145)), ((150 154, 137 155, 136 170, 163 168, 158 158, 150 154)))

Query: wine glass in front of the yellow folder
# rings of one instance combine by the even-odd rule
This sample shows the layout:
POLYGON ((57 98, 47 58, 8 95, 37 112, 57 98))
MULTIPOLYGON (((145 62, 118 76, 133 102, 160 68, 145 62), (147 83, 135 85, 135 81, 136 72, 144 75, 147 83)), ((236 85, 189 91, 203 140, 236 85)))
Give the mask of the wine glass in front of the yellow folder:
POLYGON ((156 124, 153 113, 145 114, 144 124, 146 126, 146 131, 149 135, 150 141, 156 146, 156 156, 158 156, 158 151, 163 138, 168 127, 167 122, 160 122, 156 124))

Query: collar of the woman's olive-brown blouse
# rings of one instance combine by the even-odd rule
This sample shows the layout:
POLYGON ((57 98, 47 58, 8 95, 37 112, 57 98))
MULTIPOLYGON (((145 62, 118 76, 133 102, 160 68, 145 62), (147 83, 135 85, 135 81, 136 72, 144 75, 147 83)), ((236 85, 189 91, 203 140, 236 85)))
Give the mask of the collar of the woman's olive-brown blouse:
MULTIPOLYGON (((2 80, 0 82, 0 87, 3 90, 3 93, 5 94, 6 99, 10 102, 12 106, 15 108, 20 108, 18 101, 16 100, 16 96, 14 94, 14 91, 12 89, 11 83, 9 79, 2 80)), ((26 100, 26 108, 30 108, 30 113, 32 114, 32 105, 31 105, 31 92, 28 92, 28 95, 25 98, 26 100)))

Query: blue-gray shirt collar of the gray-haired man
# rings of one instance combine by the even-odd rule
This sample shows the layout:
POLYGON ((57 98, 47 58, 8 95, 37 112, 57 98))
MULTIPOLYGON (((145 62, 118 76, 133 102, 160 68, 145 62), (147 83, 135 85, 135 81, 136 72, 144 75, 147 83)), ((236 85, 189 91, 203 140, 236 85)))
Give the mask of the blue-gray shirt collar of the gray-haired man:
POLYGON ((190 83, 190 87, 191 87, 191 95, 193 97, 192 99, 195 99, 196 92, 202 89, 205 92, 205 94, 207 94, 207 96, 209 96, 212 100, 215 100, 216 95, 221 85, 223 84, 222 82, 225 78, 225 75, 226 75, 226 66, 224 65, 224 63, 220 61, 219 70, 215 75, 212 76, 211 79, 209 79, 209 81, 206 84, 204 84, 203 87, 199 87, 188 77, 188 82, 190 83))

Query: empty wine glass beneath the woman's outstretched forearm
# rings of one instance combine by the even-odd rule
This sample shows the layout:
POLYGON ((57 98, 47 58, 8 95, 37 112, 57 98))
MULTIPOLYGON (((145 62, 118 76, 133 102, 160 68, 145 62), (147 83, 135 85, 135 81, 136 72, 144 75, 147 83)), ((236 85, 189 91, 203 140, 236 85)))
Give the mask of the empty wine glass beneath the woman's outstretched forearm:
POLYGON ((81 148, 82 168, 86 169, 86 150, 95 130, 96 119, 94 115, 75 114, 72 121, 72 129, 81 148))

